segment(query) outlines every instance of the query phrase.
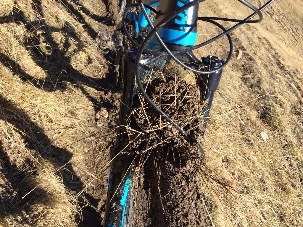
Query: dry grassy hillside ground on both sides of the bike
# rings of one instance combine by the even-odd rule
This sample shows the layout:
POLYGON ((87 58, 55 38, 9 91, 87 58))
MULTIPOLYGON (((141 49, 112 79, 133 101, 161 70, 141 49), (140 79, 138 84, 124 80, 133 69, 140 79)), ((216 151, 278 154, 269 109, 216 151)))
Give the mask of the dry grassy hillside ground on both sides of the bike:
MULTIPOLYGON (((205 1, 199 13, 250 13, 225 2, 205 1)), ((93 42, 99 29, 114 30, 115 3, 1 2, 0 226, 102 226, 120 95, 114 50, 100 54, 93 42)), ((277 1, 260 24, 231 34, 235 54, 205 131, 205 168, 176 177, 196 189, 199 204, 183 205, 207 207, 210 226, 303 223, 301 12, 301 1, 277 1)), ((218 32, 199 28, 197 42, 218 32)), ((227 45, 222 39, 195 54, 224 59, 227 45)))

